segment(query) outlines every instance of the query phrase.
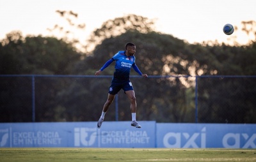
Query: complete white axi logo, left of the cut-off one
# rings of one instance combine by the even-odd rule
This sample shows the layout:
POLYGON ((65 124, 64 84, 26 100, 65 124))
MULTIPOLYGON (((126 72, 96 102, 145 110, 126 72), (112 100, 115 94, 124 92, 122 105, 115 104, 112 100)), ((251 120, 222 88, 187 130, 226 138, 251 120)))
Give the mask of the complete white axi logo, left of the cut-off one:
POLYGON ((168 148, 205 148, 206 145, 206 128, 201 129, 201 133, 173 133, 169 132, 164 135, 163 144, 168 148), (184 141, 183 141, 183 140, 184 141))

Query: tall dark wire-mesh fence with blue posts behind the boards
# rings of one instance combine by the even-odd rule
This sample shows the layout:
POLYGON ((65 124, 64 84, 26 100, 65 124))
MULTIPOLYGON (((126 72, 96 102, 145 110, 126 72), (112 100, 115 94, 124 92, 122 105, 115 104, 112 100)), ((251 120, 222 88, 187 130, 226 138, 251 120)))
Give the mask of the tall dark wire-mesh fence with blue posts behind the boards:
MULTIPOLYGON (((111 78, 0 75, 0 122, 95 121, 111 78)), ((132 75, 131 81, 139 120, 256 123, 256 76, 149 76, 142 80, 132 75)), ((128 120, 127 105, 119 92, 107 119, 128 120)))

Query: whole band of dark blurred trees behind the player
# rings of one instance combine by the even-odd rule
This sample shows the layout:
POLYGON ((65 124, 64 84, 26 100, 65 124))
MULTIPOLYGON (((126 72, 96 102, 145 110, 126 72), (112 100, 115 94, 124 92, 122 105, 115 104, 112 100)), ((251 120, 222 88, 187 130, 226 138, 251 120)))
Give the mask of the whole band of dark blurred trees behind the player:
MULTIPOLYGON (((61 13, 59 11, 59 13, 61 13)), ((74 13, 73 13, 74 14, 74 13)), ((72 14, 72 15, 73 15, 72 14)), ((76 15, 76 14, 75 14, 76 15)), ((254 28, 244 30, 252 34, 254 28)), ((247 24, 247 25, 246 25, 247 24)), ((81 53, 54 37, 13 31, 0 44, 0 73, 94 75, 127 41, 137 46, 136 64, 150 78, 131 78, 138 120, 195 122, 195 77, 255 75, 255 40, 246 46, 189 44, 154 31, 154 20, 128 15, 102 24, 81 53), (156 75, 177 77, 154 78, 156 75)), ((104 70, 113 75, 114 64, 104 70)), ((131 75, 137 75, 133 70, 131 75)), ((100 76, 101 77, 101 76, 100 76)), ((0 122, 31 122, 31 78, 0 77, 0 122)), ((111 78, 36 77, 36 121, 97 121, 111 78)), ((198 78, 198 122, 254 123, 255 78, 198 78)), ((130 120, 129 102, 118 94, 118 119, 130 120)), ((115 104, 106 115, 115 120, 115 104)))

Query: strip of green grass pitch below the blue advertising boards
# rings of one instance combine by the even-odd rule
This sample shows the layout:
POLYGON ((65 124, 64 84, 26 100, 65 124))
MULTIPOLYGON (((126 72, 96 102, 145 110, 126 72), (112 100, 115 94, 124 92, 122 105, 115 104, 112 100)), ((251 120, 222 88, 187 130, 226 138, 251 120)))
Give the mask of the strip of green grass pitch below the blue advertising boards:
POLYGON ((256 149, 1 148, 0 161, 256 161, 256 149))

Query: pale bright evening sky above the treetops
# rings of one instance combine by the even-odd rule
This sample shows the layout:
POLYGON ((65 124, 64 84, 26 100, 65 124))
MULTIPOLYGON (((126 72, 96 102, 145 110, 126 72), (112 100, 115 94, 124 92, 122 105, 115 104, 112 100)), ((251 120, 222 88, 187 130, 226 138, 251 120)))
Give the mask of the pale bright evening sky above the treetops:
POLYGON ((241 32, 241 22, 256 21, 255 6, 255 0, 0 0, 0 40, 11 31, 47 36, 47 28, 67 26, 56 10, 71 10, 78 14, 77 23, 86 25, 84 31, 74 31, 80 41, 107 20, 135 14, 156 19, 157 31, 189 43, 228 42, 230 36, 222 30, 232 24, 240 31, 231 36, 243 44, 248 36, 241 32))

